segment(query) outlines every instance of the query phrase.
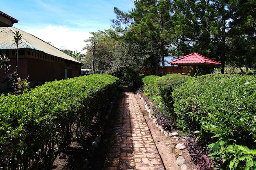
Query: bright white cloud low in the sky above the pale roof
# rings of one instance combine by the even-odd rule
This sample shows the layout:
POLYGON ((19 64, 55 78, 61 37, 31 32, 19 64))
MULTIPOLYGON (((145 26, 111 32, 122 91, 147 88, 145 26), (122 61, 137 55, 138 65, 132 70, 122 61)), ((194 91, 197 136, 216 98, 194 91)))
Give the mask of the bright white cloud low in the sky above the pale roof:
POLYGON ((51 25, 43 29, 26 29, 24 31, 45 42, 51 42, 51 44, 58 49, 65 47, 65 49, 81 53, 85 53, 85 51, 82 51, 85 46, 85 42, 83 41, 92 36, 89 32, 81 31, 79 29, 51 25))

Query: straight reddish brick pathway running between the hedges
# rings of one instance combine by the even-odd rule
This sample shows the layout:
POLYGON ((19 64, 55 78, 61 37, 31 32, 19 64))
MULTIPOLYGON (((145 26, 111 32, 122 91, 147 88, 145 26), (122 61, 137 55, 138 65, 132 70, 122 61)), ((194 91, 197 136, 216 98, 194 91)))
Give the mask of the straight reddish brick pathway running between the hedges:
POLYGON ((135 94, 124 91, 105 170, 164 170, 135 94))

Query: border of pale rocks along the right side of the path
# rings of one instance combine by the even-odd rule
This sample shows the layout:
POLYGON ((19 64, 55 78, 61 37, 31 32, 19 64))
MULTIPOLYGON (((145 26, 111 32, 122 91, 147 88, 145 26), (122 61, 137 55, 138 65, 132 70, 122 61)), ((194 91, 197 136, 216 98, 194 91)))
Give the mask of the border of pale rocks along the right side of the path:
MULTIPOLYGON (((164 130, 163 126, 159 125, 157 123, 157 118, 151 113, 151 109, 148 107, 146 101, 144 101, 144 98, 141 94, 137 93, 137 95, 139 96, 139 98, 141 99, 141 101, 143 102, 146 111, 148 112, 148 117, 152 120, 153 124, 156 125, 156 127, 158 128, 158 130, 160 131, 161 135, 163 135, 166 138, 170 138, 171 141, 173 142, 170 145, 170 151, 175 155, 175 157, 177 158, 176 163, 178 166, 181 167, 181 170, 189 170, 187 169, 187 166, 184 164, 184 157, 182 156, 182 151, 184 149, 186 149, 186 147, 184 146, 184 142, 185 139, 182 139, 182 143, 177 143, 177 141, 179 139, 181 139, 178 135, 179 132, 169 132, 167 130, 164 130)), ((197 170, 197 169, 193 169, 193 170, 197 170)))

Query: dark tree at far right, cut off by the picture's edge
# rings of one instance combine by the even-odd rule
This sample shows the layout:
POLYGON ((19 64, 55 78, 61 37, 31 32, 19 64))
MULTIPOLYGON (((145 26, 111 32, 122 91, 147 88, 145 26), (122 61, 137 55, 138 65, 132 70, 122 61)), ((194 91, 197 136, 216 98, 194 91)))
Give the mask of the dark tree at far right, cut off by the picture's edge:
POLYGON ((256 0, 234 2, 230 10, 232 20, 229 22, 228 42, 232 55, 229 62, 244 73, 243 66, 256 68, 256 0))

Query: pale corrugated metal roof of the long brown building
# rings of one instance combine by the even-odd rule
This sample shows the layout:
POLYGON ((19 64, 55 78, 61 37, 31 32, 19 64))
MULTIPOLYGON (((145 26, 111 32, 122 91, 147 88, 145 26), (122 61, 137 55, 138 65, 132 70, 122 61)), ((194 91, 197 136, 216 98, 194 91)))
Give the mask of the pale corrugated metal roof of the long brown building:
POLYGON ((57 49, 56 47, 48 44, 47 42, 40 40, 39 38, 26 33, 20 29, 15 27, 0 27, 0 50, 7 50, 7 49, 17 49, 16 44, 14 43, 13 36, 16 34, 16 31, 19 31, 21 34, 20 44, 18 46, 19 49, 30 49, 30 50, 38 50, 49 55, 53 55, 56 57, 61 57, 65 60, 69 60, 72 62, 80 63, 70 55, 63 53, 61 50, 57 49))

